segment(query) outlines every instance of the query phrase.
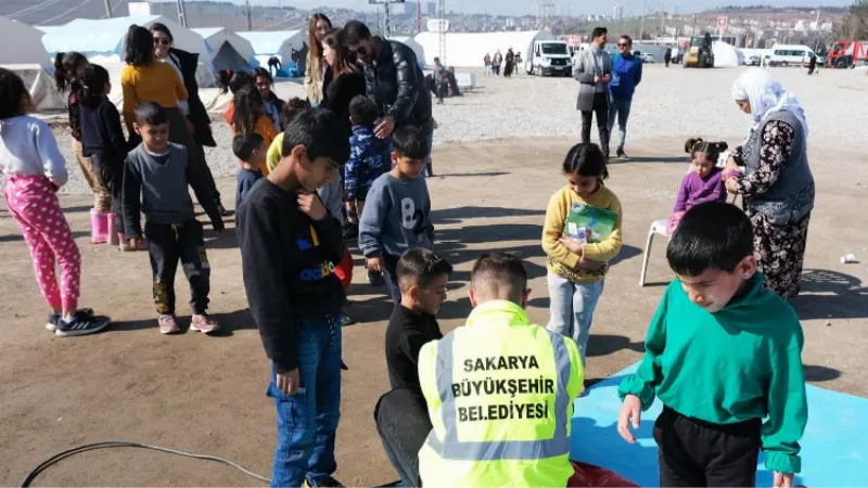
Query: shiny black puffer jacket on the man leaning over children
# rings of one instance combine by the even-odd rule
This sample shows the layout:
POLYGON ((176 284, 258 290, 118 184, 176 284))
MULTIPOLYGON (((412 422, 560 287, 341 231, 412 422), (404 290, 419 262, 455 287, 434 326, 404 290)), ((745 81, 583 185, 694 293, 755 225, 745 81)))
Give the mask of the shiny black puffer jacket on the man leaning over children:
POLYGON ((434 132, 431 116, 431 93, 416 53, 403 42, 385 40, 374 64, 360 63, 365 72, 368 97, 383 107, 385 115, 395 117, 395 126, 419 126, 424 133, 434 132))

